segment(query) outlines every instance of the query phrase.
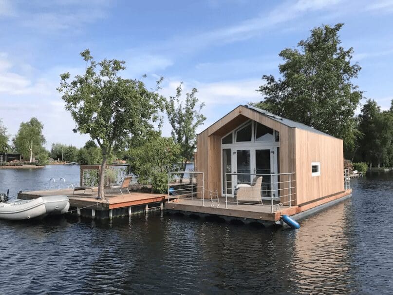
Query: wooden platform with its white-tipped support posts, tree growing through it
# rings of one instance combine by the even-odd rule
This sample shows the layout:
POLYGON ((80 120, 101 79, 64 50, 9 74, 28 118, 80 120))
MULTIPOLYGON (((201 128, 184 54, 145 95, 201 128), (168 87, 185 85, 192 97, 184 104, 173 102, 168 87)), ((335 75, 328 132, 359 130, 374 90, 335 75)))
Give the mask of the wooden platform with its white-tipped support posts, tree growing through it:
POLYGON ((163 210, 167 195, 131 192, 131 194, 107 195, 97 199, 97 188, 93 194, 73 195, 73 189, 19 192, 19 199, 34 199, 42 196, 66 195, 70 199, 71 214, 90 218, 113 218, 145 213, 150 210, 163 210))

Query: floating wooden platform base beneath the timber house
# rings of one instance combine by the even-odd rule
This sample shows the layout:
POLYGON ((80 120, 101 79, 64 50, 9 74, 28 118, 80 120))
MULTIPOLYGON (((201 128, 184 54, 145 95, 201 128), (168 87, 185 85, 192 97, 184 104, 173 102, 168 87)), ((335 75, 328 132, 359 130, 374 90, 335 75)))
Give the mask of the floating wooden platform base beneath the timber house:
POLYGON ((348 189, 341 193, 319 198, 312 202, 296 206, 275 206, 276 211, 271 212, 269 205, 243 205, 231 203, 225 208, 225 197, 220 197, 220 205, 217 207, 218 202, 211 202, 210 199, 204 200, 200 198, 186 198, 186 199, 170 199, 165 203, 165 209, 169 212, 188 215, 188 216, 202 216, 206 218, 221 218, 225 221, 239 221, 242 223, 261 223, 264 226, 271 226, 281 224, 281 216, 293 216, 294 219, 301 219, 311 214, 314 214, 326 207, 335 205, 338 201, 351 197, 352 189, 348 189))

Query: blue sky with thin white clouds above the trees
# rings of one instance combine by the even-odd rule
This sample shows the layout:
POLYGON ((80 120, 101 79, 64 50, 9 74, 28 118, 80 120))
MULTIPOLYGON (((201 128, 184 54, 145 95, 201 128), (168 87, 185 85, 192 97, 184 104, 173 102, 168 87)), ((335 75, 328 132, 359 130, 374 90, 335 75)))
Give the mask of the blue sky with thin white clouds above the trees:
MULTIPOLYGON (((0 118, 11 136, 21 121, 44 123, 53 142, 83 146, 86 135, 56 92, 59 74, 82 73, 78 55, 127 62, 124 77, 161 93, 196 87, 206 103, 200 131, 239 104, 261 99, 263 74, 278 76, 278 54, 321 24, 344 22, 340 37, 362 70, 355 83, 387 109, 393 98, 393 1, 362 0, 0 0, 0 118)), ((164 125, 163 134, 170 128, 164 125)))

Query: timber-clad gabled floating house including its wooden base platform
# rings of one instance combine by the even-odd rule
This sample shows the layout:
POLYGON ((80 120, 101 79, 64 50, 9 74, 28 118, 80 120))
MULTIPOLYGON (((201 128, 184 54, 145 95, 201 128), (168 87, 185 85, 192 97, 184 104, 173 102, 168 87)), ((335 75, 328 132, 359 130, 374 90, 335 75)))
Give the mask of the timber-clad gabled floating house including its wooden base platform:
POLYGON ((197 136, 197 196, 216 192, 216 208, 184 199, 168 209, 277 221, 350 195, 343 160, 342 139, 240 105, 197 136))

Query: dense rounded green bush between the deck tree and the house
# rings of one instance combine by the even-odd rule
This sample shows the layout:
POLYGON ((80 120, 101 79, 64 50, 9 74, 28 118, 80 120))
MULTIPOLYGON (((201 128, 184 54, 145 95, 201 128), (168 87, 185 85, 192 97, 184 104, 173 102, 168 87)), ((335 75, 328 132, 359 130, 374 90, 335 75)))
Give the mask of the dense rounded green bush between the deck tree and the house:
POLYGON ((152 184, 152 192, 168 191, 168 171, 182 160, 181 148, 172 138, 156 135, 129 151, 129 164, 139 182, 152 184))

